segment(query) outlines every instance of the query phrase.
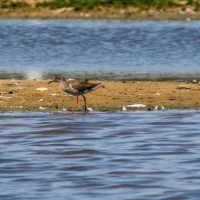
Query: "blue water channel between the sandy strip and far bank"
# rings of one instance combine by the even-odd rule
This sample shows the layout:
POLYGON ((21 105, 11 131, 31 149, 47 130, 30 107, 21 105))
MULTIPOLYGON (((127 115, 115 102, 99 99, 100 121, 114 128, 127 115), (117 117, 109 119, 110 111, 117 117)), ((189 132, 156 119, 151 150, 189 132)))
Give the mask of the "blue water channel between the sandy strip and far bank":
POLYGON ((0 78, 189 79, 200 21, 0 20, 0 78))

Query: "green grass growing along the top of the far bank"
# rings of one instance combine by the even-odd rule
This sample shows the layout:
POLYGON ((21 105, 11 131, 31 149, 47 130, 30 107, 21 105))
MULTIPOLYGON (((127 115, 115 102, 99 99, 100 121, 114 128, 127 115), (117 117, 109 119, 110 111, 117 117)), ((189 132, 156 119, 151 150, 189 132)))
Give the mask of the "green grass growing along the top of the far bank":
POLYGON ((174 0, 52 0, 49 2, 37 3, 36 6, 48 6, 52 9, 62 7, 73 7, 75 10, 94 9, 95 7, 109 7, 125 8, 128 6, 138 7, 141 10, 148 10, 150 8, 168 9, 180 6, 194 6, 195 10, 199 9, 199 1, 174 1, 174 0))

